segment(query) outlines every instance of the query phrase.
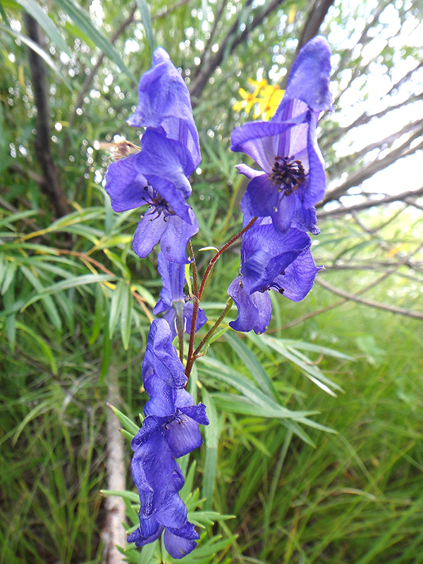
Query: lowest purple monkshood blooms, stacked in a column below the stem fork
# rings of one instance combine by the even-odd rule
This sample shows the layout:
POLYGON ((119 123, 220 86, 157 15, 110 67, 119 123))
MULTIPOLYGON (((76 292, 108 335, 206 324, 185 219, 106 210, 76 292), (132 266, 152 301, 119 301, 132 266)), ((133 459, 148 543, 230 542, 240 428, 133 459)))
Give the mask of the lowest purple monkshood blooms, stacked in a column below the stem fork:
POLYGON ((175 458, 202 444, 198 425, 207 425, 209 420, 204 404, 194 405, 184 389, 188 379, 164 319, 154 319, 150 328, 142 376, 150 399, 144 410, 147 417, 131 443, 131 470, 140 494, 140 526, 128 542, 144 546, 164 531, 168 553, 183 558, 200 537, 188 522, 187 508, 178 494, 184 478, 175 458))

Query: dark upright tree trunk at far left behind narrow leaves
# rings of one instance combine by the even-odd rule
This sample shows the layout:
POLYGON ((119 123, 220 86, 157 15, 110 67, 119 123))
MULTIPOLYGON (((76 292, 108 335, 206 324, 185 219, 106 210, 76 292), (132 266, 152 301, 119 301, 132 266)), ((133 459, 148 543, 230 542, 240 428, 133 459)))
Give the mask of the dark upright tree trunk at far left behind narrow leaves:
MULTIPOLYGON (((42 37, 39 25, 27 12, 23 14, 28 36, 32 41, 41 45, 42 37)), ((37 134, 35 135, 35 153, 42 168, 43 181, 39 187, 47 195, 56 214, 61 217, 71 212, 66 195, 61 187, 59 170, 54 164, 51 154, 51 123, 49 109, 49 86, 47 70, 42 58, 32 49, 27 50, 28 62, 34 90, 35 105, 37 106, 37 134)))

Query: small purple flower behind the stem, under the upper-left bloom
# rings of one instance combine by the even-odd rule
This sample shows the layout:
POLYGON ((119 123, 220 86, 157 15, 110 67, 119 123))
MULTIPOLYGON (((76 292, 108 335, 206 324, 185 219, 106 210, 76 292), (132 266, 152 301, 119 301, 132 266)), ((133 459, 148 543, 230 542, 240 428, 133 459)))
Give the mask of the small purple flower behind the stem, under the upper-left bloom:
MULTIPOLYGON (((163 319, 166 319, 170 328, 172 338, 176 337, 177 325, 176 314, 180 312, 183 319, 183 326, 186 333, 190 333, 192 322, 192 301, 183 292, 185 284, 185 266, 177 262, 170 262, 162 252, 157 257, 157 265, 163 288, 160 292, 160 298, 154 306, 154 315, 164 313, 163 319)), ((200 308, 197 317, 197 326, 195 331, 201 329, 206 323, 207 317, 200 308)))

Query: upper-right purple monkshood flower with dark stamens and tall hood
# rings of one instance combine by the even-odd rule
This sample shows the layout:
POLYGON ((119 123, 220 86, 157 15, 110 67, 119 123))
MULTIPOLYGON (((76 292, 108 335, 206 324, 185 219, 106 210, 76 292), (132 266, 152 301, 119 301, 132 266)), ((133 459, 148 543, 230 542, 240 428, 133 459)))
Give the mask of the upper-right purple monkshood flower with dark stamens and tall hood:
POLYGON ((250 178, 241 210, 270 216, 278 233, 290 227, 319 233, 314 206, 324 196, 326 175, 316 125, 320 111, 331 109, 330 56, 327 40, 314 37, 294 63, 274 118, 246 123, 231 136, 231 149, 247 154, 262 169, 237 166, 250 178))

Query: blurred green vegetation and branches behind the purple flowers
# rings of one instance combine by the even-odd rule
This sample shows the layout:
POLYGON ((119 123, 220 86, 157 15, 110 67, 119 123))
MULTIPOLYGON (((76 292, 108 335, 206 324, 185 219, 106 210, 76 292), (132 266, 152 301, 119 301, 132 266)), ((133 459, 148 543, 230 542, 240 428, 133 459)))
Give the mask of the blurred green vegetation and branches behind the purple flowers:
MULTIPOLYGON (((153 46, 192 94, 198 250, 240 228, 243 157, 230 136, 257 111, 233 109, 240 89, 249 79, 283 88, 319 32, 333 48, 335 100, 319 123, 328 192, 314 258, 326 270, 304 302, 275 297, 266 336, 228 331, 197 362, 192 392, 212 425, 192 456, 192 505, 235 517, 206 525, 188 558, 423 561, 422 10, 412 0, 1 0, 1 563, 111 561, 104 402, 112 394, 139 420, 161 283, 157 254, 140 261, 131 247, 140 212, 111 210, 106 144, 137 143, 125 120, 153 46)), ((214 268, 209 319, 238 252, 214 268)), ((211 256, 197 253, 200 271, 211 256)), ((157 547, 128 559, 161 561, 157 547)))

